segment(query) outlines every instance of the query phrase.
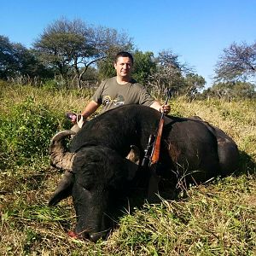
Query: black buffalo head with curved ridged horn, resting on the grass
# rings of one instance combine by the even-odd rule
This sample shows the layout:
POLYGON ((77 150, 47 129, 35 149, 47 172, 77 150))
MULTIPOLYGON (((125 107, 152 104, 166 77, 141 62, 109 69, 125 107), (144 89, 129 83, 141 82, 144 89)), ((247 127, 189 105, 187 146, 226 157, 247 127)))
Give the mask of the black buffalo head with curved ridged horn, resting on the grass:
POLYGON ((51 141, 51 164, 66 172, 49 205, 72 195, 78 219, 76 236, 97 241, 113 226, 110 215, 116 195, 134 177, 137 166, 104 146, 87 146, 70 153, 63 139, 71 134, 61 131, 51 141))

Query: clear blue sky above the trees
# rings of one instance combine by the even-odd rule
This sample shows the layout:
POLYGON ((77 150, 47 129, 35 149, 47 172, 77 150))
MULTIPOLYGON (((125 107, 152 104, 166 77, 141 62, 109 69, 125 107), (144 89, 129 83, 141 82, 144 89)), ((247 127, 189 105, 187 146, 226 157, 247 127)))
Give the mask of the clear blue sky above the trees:
POLYGON ((256 42, 256 0, 0 0, 0 35, 30 48, 61 17, 125 32, 154 56, 172 50, 206 87, 225 48, 256 42))

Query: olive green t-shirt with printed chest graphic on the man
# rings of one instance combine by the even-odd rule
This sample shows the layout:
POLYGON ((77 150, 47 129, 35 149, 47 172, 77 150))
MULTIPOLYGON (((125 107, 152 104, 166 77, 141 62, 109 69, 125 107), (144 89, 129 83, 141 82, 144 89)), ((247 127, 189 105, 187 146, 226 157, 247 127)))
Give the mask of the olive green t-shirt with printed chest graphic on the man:
POLYGON ((102 112, 126 104, 149 107, 154 102, 154 98, 149 95, 148 91, 135 80, 132 79, 127 84, 118 84, 116 77, 103 81, 91 99, 102 104, 102 112))

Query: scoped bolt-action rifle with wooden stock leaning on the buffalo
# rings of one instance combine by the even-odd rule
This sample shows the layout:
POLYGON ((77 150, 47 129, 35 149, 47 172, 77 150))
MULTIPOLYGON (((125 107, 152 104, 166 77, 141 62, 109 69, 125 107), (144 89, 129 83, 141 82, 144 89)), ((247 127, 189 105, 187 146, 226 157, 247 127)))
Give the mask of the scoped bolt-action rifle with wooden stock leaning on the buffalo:
MULTIPOLYGON (((167 89, 166 90, 166 102, 165 105, 168 103, 170 96, 171 96, 171 90, 167 89)), ((150 134, 148 138, 148 146, 144 150, 144 158, 143 158, 143 163, 142 166, 152 166, 156 164, 159 161, 159 156, 160 156, 160 141, 162 137, 162 131, 164 127, 164 111, 161 113, 160 116, 160 122, 157 128, 156 135, 150 134)))

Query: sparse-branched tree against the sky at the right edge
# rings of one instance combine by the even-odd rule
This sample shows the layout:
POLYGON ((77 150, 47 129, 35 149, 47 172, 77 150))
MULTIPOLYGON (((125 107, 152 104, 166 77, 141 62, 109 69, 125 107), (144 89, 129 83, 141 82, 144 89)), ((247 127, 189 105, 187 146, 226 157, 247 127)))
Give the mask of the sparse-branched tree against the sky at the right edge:
POLYGON ((237 81, 246 80, 256 74, 256 43, 233 43, 224 49, 215 68, 215 80, 237 81))

